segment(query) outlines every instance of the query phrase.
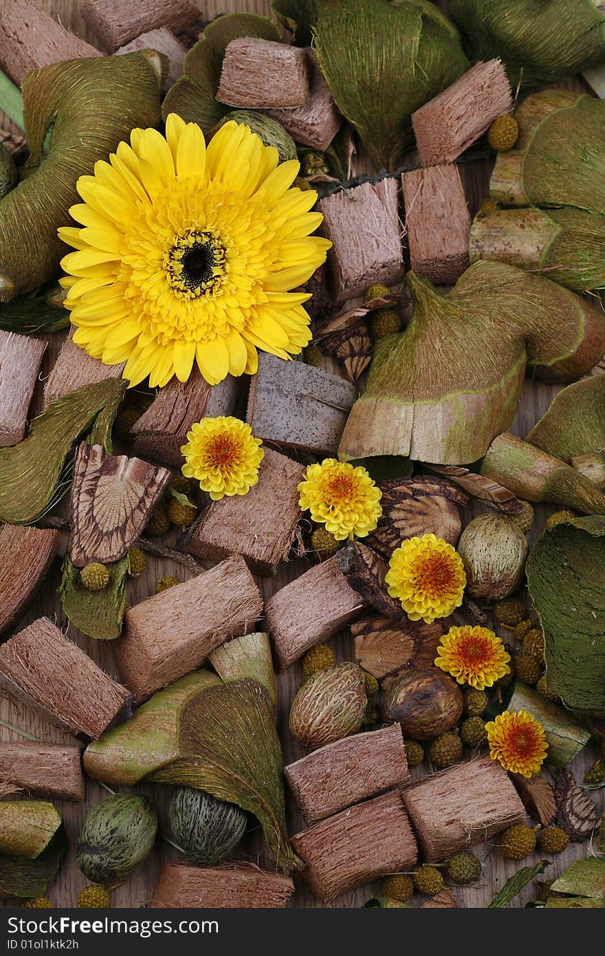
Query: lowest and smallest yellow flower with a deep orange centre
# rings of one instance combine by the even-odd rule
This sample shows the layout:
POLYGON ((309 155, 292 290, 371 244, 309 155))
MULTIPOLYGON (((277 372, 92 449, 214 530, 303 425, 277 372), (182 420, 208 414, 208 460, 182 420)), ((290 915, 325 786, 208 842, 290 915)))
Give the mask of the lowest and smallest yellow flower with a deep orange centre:
POLYGON ((486 724, 486 732, 489 756, 506 771, 530 777, 542 767, 549 748, 546 732, 527 710, 505 710, 486 724))

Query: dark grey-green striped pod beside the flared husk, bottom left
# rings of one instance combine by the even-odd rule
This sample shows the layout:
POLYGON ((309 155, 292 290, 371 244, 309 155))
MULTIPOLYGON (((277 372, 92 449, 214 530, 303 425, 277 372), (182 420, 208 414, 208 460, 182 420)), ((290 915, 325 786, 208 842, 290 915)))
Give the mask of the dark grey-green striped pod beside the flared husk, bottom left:
POLYGON ((184 855, 192 863, 213 866, 237 846, 248 814, 236 803, 211 793, 176 787, 170 798, 170 826, 184 855))

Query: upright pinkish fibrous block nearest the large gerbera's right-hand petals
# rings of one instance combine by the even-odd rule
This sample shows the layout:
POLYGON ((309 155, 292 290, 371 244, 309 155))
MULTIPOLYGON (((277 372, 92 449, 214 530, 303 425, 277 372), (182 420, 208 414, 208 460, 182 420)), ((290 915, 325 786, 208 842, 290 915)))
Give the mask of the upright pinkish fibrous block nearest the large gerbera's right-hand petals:
POLYGON ((403 278, 399 185, 394 179, 363 183, 320 199, 323 231, 336 298, 353 298, 369 285, 403 278))

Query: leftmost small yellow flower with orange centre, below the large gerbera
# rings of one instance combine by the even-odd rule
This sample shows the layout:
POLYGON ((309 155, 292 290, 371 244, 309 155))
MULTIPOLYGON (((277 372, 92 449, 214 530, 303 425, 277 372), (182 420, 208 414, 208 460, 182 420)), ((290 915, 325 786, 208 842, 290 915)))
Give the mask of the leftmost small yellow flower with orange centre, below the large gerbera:
POLYGON ((196 478, 213 501, 226 495, 246 494, 258 481, 265 456, 260 438, 249 424, 220 415, 191 426, 187 444, 181 447, 185 478, 196 478))

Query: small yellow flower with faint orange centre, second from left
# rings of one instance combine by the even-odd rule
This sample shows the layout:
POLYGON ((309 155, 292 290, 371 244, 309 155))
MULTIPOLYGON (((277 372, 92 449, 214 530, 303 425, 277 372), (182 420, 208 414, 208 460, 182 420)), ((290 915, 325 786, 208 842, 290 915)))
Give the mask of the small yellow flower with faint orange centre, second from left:
POLYGON ((336 541, 365 537, 382 514, 382 492, 366 469, 335 458, 310 465, 298 490, 300 507, 311 511, 313 521, 325 525, 336 541))

